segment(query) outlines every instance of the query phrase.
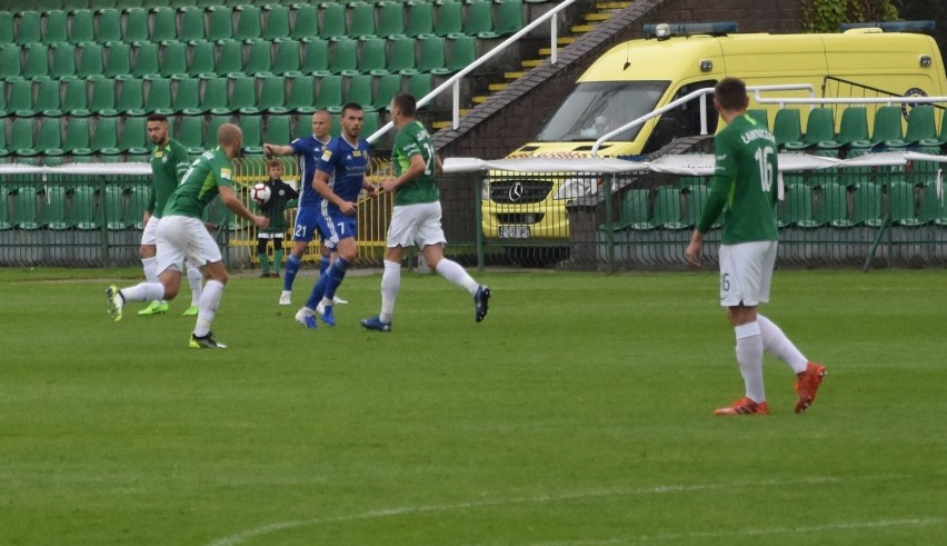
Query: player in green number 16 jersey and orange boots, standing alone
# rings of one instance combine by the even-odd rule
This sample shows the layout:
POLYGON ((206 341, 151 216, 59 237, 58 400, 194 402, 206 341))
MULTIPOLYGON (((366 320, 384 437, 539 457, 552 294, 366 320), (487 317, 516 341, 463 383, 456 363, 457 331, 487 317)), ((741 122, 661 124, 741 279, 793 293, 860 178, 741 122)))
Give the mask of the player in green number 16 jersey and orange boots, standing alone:
POLYGON ((746 387, 745 397, 715 413, 769 413, 762 383, 764 350, 784 360, 796 374, 796 413, 803 413, 816 399, 826 368, 803 356, 778 326, 757 312, 759 304, 769 301, 776 264, 776 200, 782 183, 776 139, 767 127, 747 116, 749 97, 742 80, 720 80, 714 106, 727 127, 714 142, 714 182, 685 256, 692 265, 700 265, 704 235, 722 212, 720 305, 727 308, 736 332, 737 364, 746 387))

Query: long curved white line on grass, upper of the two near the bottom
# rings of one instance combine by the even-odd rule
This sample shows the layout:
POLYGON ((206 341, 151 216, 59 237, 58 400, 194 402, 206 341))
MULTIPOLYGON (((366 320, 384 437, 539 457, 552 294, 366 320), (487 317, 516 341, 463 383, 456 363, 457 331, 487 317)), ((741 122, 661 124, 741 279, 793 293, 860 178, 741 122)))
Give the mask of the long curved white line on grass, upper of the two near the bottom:
MULTIPOLYGON (((280 522, 270 525, 263 525, 261 527, 256 527, 252 529, 245 530, 242 533, 238 533, 236 535, 230 535, 222 538, 217 538, 208 544, 208 546, 236 546, 238 544, 242 544, 251 538, 270 535, 273 533, 279 533, 281 530, 295 529, 298 527, 309 527, 313 525, 322 525, 322 524, 333 524, 333 523, 347 523, 347 522, 357 522, 360 519, 379 519, 385 517, 392 516, 402 516, 406 514, 423 514, 429 512, 449 512, 449 510, 466 510, 470 508, 481 508, 488 506, 502 506, 502 505, 514 505, 514 504, 534 504, 534 503, 556 503, 562 500, 574 500, 580 498, 595 498, 595 497, 608 497, 608 496, 631 496, 631 495, 659 495, 667 493, 686 493, 686 492, 699 492, 699 490, 710 490, 710 489, 725 489, 725 488, 734 488, 734 487, 759 487, 759 486, 786 486, 793 484, 821 484, 821 483, 831 483, 831 482, 844 482, 844 480, 868 480, 868 479, 893 479, 893 478, 903 478, 905 476, 893 476, 893 475, 879 475, 879 476, 858 476, 854 478, 838 478, 838 477, 828 477, 828 476, 818 476, 818 477, 809 477, 801 479, 789 479, 789 480, 762 480, 762 482, 746 482, 746 483, 737 483, 737 484, 705 484, 705 485, 669 485, 669 486, 657 486, 657 487, 641 487, 634 489, 600 489, 600 490, 591 490, 591 492, 580 492, 580 493, 566 493, 561 495, 540 495, 537 497, 520 497, 520 498, 495 498, 495 499, 484 499, 484 500, 475 500, 470 503, 458 503, 458 504, 449 504, 449 505, 433 505, 433 506, 405 506, 400 508, 386 508, 380 510, 371 510, 365 512, 362 514, 351 514, 351 515, 341 515, 341 516, 332 516, 332 517, 317 517, 311 519, 292 519, 289 522, 280 522)), ((933 520, 937 522, 937 520, 933 520)), ((787 530, 788 532, 788 530, 787 530)), ((681 535, 680 537, 699 537, 702 535, 681 535)), ((707 535, 707 536, 717 536, 717 535, 707 535)), ((722 536, 722 535, 721 535, 722 536)), ((649 539, 654 539, 650 537, 649 539)), ((627 540, 627 539, 625 539, 627 540)), ((578 545, 578 544, 587 544, 587 543, 568 543, 569 545, 578 545)), ((609 542, 602 543, 588 543, 588 544, 609 544, 609 542)))

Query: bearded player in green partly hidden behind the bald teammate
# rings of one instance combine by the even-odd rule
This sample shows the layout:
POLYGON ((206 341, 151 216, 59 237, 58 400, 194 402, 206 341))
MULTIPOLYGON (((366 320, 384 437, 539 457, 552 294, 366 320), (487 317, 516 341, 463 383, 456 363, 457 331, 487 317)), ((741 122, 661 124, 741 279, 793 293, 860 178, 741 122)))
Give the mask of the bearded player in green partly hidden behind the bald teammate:
MULTIPOLYGON (((165 210, 168 197, 178 189, 181 176, 188 169, 188 152, 179 142, 171 140, 168 135, 168 118, 161 113, 148 116, 148 137, 154 145, 151 152, 151 186, 148 188, 148 205, 144 208, 141 234, 141 248, 139 256, 144 269, 144 279, 149 282, 158 282, 158 222, 165 210)), ((198 314, 198 301, 200 301, 201 279, 200 269, 188 267, 188 284, 191 287, 191 306, 185 310, 186 317, 198 314)), ((142 317, 151 315, 163 315, 168 312, 168 302, 163 300, 152 301, 151 305, 138 311, 142 317)))

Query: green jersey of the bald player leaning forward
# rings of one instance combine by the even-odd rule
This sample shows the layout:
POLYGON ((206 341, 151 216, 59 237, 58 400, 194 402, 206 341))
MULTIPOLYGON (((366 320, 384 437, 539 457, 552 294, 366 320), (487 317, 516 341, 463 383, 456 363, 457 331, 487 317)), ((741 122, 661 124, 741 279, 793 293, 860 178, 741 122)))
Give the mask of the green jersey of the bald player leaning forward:
POLYGON ((233 188, 233 165, 219 147, 201 153, 188 167, 181 185, 168 198, 165 216, 200 218, 207 205, 219 193, 218 186, 233 188))

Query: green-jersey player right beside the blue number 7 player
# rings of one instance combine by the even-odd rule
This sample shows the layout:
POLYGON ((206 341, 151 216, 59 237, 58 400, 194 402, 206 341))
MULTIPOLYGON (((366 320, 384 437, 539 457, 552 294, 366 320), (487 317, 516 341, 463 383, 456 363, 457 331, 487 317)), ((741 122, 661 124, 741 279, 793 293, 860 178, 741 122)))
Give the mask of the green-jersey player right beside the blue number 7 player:
POLYGON ((470 294, 476 321, 487 316, 490 289, 474 280, 459 264, 443 257, 447 239, 440 225, 440 192, 435 183, 435 176, 443 171, 443 163, 427 129, 415 119, 417 101, 411 95, 401 93, 391 99, 389 111, 398 129, 391 151, 396 177, 385 180, 381 187, 395 192, 395 211, 385 249, 381 312, 361 321, 369 330, 391 330, 395 300, 401 287, 401 261, 408 248, 416 244, 421 247, 428 267, 470 294))

